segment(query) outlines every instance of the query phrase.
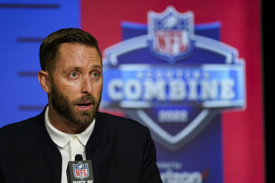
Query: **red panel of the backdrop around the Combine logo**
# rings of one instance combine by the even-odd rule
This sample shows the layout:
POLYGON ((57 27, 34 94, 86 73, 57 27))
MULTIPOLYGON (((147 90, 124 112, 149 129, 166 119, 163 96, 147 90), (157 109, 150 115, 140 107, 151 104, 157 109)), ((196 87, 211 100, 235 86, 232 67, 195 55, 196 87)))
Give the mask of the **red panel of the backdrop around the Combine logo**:
POLYGON ((103 51, 121 41, 121 21, 147 23, 149 10, 162 12, 168 5, 179 12, 193 11, 195 24, 220 21, 221 41, 238 49, 239 57, 245 59, 246 109, 222 114, 224 182, 263 182, 259 1, 82 0, 80 22, 103 51))

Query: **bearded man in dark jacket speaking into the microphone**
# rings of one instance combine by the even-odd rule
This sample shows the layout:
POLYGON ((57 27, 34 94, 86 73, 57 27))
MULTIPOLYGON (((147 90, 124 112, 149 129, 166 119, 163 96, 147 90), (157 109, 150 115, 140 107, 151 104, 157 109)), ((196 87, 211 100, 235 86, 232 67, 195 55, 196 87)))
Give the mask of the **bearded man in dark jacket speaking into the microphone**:
POLYGON ((91 160, 95 183, 162 182, 148 128, 97 112, 102 58, 97 40, 60 29, 40 46, 43 112, 0 129, 0 182, 67 182, 68 161, 91 160))

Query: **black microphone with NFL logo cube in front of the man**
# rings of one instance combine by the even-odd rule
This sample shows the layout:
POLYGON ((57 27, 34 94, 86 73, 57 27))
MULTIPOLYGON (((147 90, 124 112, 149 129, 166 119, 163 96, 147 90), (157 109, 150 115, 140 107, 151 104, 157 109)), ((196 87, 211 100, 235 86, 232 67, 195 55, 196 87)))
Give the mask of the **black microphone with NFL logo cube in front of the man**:
POLYGON ((76 154, 74 160, 75 161, 68 162, 66 171, 68 183, 95 183, 93 176, 92 161, 83 161, 83 157, 81 154, 76 154))

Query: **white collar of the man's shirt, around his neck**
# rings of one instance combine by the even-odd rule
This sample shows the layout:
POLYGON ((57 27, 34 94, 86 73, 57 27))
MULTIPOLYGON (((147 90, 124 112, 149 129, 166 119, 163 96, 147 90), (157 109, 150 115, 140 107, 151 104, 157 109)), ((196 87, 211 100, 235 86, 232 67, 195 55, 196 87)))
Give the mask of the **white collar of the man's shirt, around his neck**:
POLYGON ((64 146, 66 146, 66 144, 68 144, 70 138, 72 136, 76 136, 79 141, 86 146, 92 132, 93 129, 95 127, 95 119, 93 120, 93 122, 91 123, 91 125, 84 130, 83 132, 79 133, 79 134, 67 134, 64 132, 61 132, 59 130, 57 130, 56 128, 54 128, 54 126, 52 126, 52 124, 50 123, 49 120, 49 106, 47 106, 46 111, 45 111, 45 126, 46 129, 50 135, 50 137, 52 138, 52 140, 54 141, 54 143, 59 146, 60 148, 63 148, 64 146))

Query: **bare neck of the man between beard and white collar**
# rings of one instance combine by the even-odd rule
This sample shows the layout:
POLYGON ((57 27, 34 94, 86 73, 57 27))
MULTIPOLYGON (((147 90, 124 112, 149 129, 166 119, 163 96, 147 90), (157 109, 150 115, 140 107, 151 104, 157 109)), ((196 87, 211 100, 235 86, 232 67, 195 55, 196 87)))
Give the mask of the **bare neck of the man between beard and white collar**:
POLYGON ((88 126, 80 127, 68 121, 52 105, 49 105, 49 120, 54 128, 67 134, 78 134, 88 128, 88 126))

